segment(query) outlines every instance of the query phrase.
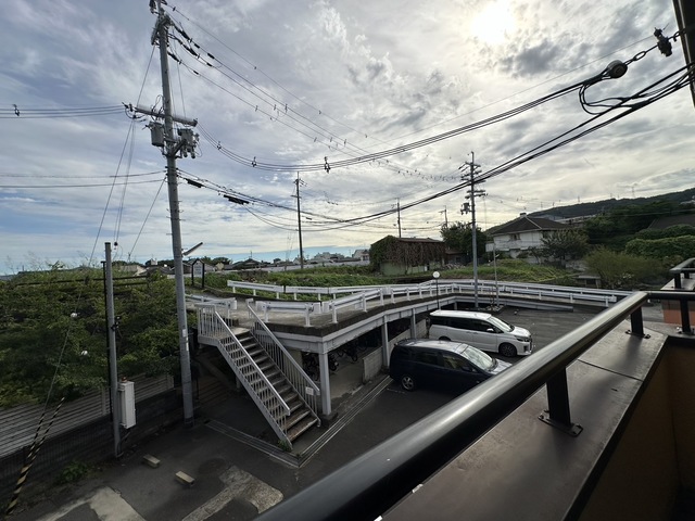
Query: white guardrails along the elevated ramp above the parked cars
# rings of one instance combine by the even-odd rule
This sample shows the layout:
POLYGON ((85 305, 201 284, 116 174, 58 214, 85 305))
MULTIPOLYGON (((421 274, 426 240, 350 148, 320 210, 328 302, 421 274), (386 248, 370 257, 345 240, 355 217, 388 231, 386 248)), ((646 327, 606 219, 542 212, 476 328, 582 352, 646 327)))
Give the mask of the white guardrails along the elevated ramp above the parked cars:
MULTIPOLYGON (((470 279, 428 280, 419 284, 392 284, 392 285, 351 285, 340 288, 314 288, 314 287, 285 287, 273 284, 260 284, 256 282, 227 281, 227 287, 232 291, 251 290, 256 296, 260 291, 275 294, 276 301, 255 301, 256 310, 264 314, 264 321, 268 321, 269 313, 302 314, 304 323, 311 326, 311 316, 319 314, 332 314, 332 321, 338 322, 338 310, 353 306, 355 309, 367 310, 367 302, 379 298, 383 304, 384 297, 395 302, 397 296, 406 300, 432 296, 439 292, 440 297, 451 293, 468 293, 475 291, 475 281, 470 279), (344 295, 345 296, 337 296, 344 295), (291 294, 292 301, 280 300, 281 294, 291 294), (298 295, 316 295, 318 302, 301 302, 298 295), (332 296, 331 300, 321 302, 321 295, 332 296)), ((538 300, 565 298, 570 303, 601 302, 606 307, 618 302, 619 297, 629 295, 629 291, 596 290, 591 288, 571 288, 548 284, 532 284, 522 282, 493 282, 479 280, 478 291, 482 296, 533 296, 538 300)), ((220 301, 222 302, 222 301, 220 301)), ((236 301, 235 301, 236 308, 236 301)))

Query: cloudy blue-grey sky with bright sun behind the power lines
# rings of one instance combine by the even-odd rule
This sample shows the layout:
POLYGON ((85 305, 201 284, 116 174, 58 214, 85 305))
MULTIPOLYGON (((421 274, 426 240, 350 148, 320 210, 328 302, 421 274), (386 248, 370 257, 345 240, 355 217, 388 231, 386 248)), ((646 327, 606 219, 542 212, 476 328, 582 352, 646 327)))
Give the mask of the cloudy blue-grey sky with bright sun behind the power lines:
MULTIPOLYGON (((125 107, 163 107, 148 3, 5 7, 0 274, 99 265, 105 242, 115 260, 173 258, 166 158, 150 131, 162 119, 125 107)), ((181 243, 203 243, 193 256, 441 239, 442 224, 472 221, 471 163, 483 230, 692 188, 693 98, 659 82, 685 65, 681 41, 670 56, 653 49, 655 28, 678 30, 671 0, 168 0, 164 11, 172 109, 197 120, 198 144, 176 161, 181 243), (595 79, 615 60, 627 74, 595 79), (631 111, 641 91, 653 102, 631 111)))

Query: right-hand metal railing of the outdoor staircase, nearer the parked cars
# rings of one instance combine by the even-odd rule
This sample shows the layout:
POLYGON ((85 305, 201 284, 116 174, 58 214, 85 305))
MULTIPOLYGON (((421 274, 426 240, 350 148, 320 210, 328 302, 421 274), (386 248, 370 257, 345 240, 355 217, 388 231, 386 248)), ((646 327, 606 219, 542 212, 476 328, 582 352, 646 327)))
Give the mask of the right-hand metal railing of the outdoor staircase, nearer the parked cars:
POLYGON ((261 317, 253 310, 251 305, 252 298, 247 301, 249 308, 249 317, 253 320, 251 327, 251 334, 255 338, 256 342, 265 350, 265 352, 273 358, 273 360, 280 368, 280 371, 288 379, 290 385, 299 394, 304 404, 312 410, 313 416, 317 421, 318 406, 320 399, 320 389, 309 378, 302 366, 298 364, 294 357, 285 348, 280 341, 273 334, 273 331, 268 329, 261 317))

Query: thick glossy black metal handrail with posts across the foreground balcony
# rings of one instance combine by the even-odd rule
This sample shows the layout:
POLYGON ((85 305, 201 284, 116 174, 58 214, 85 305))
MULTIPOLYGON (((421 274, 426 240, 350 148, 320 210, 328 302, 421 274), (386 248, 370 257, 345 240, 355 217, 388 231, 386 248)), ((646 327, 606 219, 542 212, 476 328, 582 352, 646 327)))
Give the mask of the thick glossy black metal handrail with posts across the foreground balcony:
MULTIPOLYGON (((544 384, 548 420, 571 431, 566 368, 628 316, 643 334, 635 292, 548 346, 486 380, 348 465, 289 497, 258 520, 375 520, 480 439, 544 384)), ((679 292, 664 292, 670 297, 679 292)), ((690 293, 695 300, 695 294, 690 293)), ((680 298, 680 296, 679 296, 680 298)))

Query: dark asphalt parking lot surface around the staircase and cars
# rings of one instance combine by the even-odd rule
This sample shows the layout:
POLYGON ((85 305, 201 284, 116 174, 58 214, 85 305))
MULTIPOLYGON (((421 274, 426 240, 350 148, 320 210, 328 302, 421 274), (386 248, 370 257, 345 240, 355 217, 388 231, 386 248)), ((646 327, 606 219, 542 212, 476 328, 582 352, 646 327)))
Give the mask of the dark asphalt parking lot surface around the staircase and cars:
MULTIPOLYGON (((591 313, 506 309, 503 319, 532 331, 535 350, 591 319, 591 313)), ((531 355, 532 356, 532 355, 531 355)), ((251 520, 260 511, 346 463, 415 423, 454 396, 391 383, 301 468, 273 458, 204 422, 176 428, 77 486, 54 490, 8 520, 251 520), (142 463, 152 454, 159 468, 142 463), (193 486, 179 483, 184 471, 193 486)))

